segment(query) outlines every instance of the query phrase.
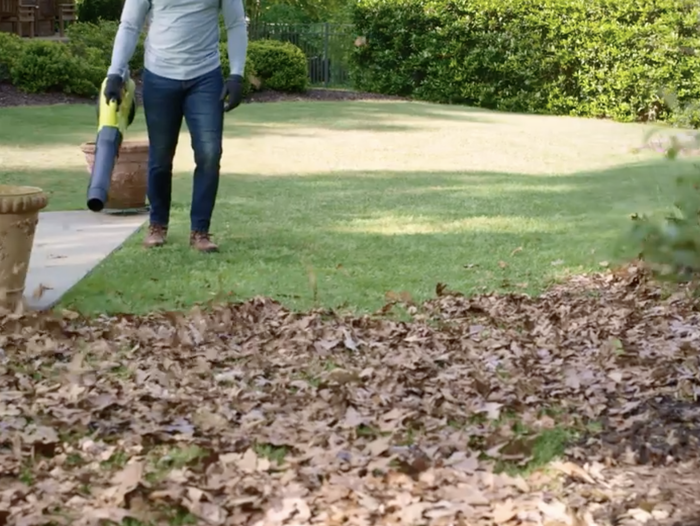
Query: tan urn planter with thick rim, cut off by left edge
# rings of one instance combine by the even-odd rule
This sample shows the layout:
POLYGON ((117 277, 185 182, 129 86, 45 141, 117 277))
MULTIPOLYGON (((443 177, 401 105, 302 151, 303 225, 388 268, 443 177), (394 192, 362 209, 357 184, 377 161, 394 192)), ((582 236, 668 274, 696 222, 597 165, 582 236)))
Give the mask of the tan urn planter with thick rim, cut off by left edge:
POLYGON ((0 185, 0 307, 22 302, 39 210, 47 195, 33 186, 0 185))

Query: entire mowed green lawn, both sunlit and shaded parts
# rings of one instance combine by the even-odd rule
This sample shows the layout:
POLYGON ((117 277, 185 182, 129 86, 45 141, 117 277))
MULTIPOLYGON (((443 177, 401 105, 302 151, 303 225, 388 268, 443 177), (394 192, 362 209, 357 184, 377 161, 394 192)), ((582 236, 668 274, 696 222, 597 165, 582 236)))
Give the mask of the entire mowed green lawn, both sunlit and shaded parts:
MULTIPOLYGON (((127 139, 144 136, 143 113, 127 139)), ((403 102, 247 104, 226 117, 212 231, 187 246, 193 156, 183 126, 169 246, 137 233, 63 299, 86 313, 274 297, 371 311, 438 282, 537 293, 631 255, 629 216, 667 208, 693 170, 634 154, 647 126, 403 102)), ((0 183, 41 186, 50 210, 84 209, 79 149, 92 106, 0 110, 0 183)))

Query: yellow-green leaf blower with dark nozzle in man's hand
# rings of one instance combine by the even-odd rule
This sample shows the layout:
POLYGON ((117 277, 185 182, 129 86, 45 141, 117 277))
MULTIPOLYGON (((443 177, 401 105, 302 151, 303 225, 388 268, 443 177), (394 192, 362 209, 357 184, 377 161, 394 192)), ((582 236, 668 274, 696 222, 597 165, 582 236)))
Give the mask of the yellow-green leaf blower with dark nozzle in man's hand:
POLYGON ((119 157, 124 133, 136 116, 136 84, 129 71, 124 74, 121 104, 117 104, 116 100, 106 99, 106 84, 105 78, 97 100, 95 162, 92 165, 87 191, 87 206, 93 212, 101 211, 107 202, 112 172, 119 157))

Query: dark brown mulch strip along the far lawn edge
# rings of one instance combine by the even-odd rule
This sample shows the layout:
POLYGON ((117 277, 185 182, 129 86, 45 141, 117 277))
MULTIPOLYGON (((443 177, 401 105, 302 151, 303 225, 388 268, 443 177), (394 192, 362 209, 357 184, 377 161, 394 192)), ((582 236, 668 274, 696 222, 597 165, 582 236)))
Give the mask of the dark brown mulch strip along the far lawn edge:
MULTIPOLYGON (((137 101, 141 101, 141 86, 137 84, 137 101)), ((351 101, 351 100, 401 100, 400 97, 375 93, 358 93, 350 90, 314 88, 305 93, 281 93, 265 90, 251 94, 246 103, 288 101, 351 101)), ((64 93, 24 93, 10 84, 0 83, 0 108, 13 106, 45 106, 50 104, 93 104, 94 98, 66 95, 64 93)))

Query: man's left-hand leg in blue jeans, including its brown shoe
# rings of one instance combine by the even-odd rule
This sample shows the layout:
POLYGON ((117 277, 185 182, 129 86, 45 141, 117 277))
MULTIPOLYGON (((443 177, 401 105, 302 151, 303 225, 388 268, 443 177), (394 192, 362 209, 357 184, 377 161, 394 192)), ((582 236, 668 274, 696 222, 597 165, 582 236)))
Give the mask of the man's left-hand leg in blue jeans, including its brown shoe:
POLYGON ((173 157, 183 116, 185 86, 182 81, 143 72, 143 112, 148 128, 148 201, 150 228, 147 247, 165 243, 170 222, 173 157))

